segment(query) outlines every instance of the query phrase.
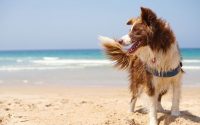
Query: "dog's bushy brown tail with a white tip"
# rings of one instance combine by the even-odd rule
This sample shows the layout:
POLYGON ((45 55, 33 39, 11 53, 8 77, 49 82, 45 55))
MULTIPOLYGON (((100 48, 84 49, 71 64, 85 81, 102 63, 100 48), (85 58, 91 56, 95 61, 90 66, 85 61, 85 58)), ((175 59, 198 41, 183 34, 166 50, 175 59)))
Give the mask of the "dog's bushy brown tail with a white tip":
POLYGON ((126 69, 130 63, 130 56, 122 46, 113 39, 108 37, 99 37, 99 40, 102 42, 104 51, 108 58, 115 62, 115 66, 120 69, 126 69))

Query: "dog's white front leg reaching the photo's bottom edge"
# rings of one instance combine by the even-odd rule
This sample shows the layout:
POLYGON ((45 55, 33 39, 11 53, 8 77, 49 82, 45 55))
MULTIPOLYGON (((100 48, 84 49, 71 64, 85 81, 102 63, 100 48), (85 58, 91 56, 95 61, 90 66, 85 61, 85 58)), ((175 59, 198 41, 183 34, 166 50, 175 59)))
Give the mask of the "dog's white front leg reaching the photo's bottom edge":
POLYGON ((148 96, 149 97, 149 125, 157 125, 157 110, 156 102, 157 96, 148 96))

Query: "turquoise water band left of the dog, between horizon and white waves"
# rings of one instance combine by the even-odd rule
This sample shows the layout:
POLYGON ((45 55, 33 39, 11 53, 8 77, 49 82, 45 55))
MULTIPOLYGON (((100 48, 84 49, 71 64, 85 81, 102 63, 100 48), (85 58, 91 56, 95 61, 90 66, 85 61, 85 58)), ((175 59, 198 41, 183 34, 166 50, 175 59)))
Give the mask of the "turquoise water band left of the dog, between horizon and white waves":
POLYGON ((71 59, 102 59, 104 55, 101 50, 21 50, 0 51, 0 58, 43 58, 59 57, 71 59))

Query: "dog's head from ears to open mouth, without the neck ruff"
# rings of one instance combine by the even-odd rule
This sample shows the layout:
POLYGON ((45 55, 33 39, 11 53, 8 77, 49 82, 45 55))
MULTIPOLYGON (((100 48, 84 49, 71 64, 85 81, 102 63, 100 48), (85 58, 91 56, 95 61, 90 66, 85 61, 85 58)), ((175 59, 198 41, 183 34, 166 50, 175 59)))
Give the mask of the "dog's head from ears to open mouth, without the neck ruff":
POLYGON ((133 44, 129 52, 134 52, 140 47, 147 46, 152 41, 156 20, 157 16, 152 10, 141 7, 140 17, 131 18, 127 22, 127 25, 131 25, 131 29, 118 42, 122 45, 133 44))

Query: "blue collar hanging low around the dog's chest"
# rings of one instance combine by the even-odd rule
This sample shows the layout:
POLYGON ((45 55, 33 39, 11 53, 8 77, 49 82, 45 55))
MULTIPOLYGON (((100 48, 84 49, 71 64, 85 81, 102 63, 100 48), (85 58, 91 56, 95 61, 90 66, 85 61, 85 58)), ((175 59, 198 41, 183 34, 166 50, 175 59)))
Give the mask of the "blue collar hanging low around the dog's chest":
POLYGON ((177 75, 181 71, 181 65, 178 65, 178 67, 176 67, 173 70, 165 71, 165 72, 159 72, 158 70, 152 69, 148 66, 146 66, 146 70, 147 72, 157 77, 172 77, 172 76, 177 75))

